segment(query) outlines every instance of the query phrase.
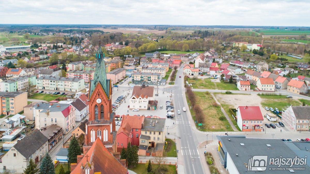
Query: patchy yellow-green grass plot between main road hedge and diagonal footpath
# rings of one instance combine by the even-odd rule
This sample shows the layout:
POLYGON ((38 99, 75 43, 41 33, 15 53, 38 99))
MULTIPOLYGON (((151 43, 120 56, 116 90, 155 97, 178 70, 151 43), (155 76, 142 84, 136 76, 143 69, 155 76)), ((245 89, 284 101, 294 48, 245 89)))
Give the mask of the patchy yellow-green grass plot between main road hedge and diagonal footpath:
MULTIPOLYGON (((197 105, 201 106, 202 112, 205 115, 205 127, 199 130, 206 131, 226 131, 226 125, 229 125, 228 121, 225 119, 223 121, 219 120, 220 116, 224 117, 223 112, 219 106, 214 106, 215 100, 210 94, 206 92, 194 92, 197 100, 197 105), (212 128, 214 126, 215 128, 212 128)), ((189 101, 188 101, 189 102, 189 101)), ((193 111, 191 111, 193 115, 193 111)), ((194 117, 193 117, 194 118, 194 117)), ((228 131, 233 131, 232 127, 229 125, 228 131)))

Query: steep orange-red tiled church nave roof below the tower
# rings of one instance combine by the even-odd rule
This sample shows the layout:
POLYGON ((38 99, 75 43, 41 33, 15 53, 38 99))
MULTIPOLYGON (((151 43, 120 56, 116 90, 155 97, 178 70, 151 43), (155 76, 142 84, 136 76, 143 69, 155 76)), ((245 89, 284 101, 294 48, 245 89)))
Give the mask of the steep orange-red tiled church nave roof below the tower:
POLYGON ((108 151, 108 149, 102 144, 102 141, 100 141, 99 137, 96 138, 91 148, 86 152, 86 154, 84 154, 84 157, 73 169, 71 174, 82 174, 81 167, 85 167, 85 165, 88 165, 88 163, 94 163, 94 173, 101 172, 102 174, 127 174, 126 167, 124 167, 113 156, 113 154, 108 151))

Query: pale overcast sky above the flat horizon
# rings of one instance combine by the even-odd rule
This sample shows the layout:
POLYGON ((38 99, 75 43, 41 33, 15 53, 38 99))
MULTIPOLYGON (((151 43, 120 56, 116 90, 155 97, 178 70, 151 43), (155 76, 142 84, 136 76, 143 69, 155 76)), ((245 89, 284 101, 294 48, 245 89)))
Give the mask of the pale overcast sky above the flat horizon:
POLYGON ((310 26, 310 0, 0 0, 1 24, 310 26))

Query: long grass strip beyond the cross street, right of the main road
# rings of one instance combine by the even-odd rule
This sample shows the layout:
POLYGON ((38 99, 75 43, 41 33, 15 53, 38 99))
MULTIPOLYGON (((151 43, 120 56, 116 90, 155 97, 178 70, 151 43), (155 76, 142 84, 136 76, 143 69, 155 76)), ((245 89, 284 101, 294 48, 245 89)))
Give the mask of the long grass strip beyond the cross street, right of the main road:
POLYGON ((234 83, 221 81, 220 83, 211 82, 211 79, 188 79, 194 89, 222 89, 222 90, 239 90, 234 83))

